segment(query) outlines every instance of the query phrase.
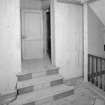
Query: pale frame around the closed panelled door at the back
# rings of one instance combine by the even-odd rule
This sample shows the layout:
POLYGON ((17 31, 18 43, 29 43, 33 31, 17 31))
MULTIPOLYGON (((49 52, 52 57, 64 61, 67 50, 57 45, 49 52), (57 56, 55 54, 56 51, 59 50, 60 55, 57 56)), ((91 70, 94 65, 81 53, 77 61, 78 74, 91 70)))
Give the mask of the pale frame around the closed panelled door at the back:
MULTIPOLYGON (((42 10, 34 10, 34 9, 23 9, 23 10, 21 10, 21 60, 23 59, 23 54, 22 54, 22 36, 24 35, 24 31, 22 31, 22 29, 24 30, 22 21, 24 21, 24 13, 25 12, 41 14, 41 34, 42 34, 42 39, 43 39, 42 43, 44 43, 44 37, 43 37, 43 13, 42 13, 42 10)), ((44 47, 43 47, 43 55, 44 55, 44 47)))

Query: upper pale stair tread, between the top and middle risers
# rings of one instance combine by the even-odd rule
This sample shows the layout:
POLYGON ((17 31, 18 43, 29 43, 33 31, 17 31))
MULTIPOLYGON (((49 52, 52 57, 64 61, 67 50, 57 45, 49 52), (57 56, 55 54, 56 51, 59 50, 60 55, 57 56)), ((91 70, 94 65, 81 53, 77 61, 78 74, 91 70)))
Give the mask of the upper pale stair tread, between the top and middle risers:
POLYGON ((47 82, 58 80, 58 79, 63 79, 63 77, 59 74, 55 74, 55 75, 50 75, 50 76, 33 78, 33 79, 29 79, 27 81, 18 82, 17 88, 24 88, 24 87, 28 87, 28 86, 32 86, 32 85, 38 85, 41 83, 47 83, 47 82))

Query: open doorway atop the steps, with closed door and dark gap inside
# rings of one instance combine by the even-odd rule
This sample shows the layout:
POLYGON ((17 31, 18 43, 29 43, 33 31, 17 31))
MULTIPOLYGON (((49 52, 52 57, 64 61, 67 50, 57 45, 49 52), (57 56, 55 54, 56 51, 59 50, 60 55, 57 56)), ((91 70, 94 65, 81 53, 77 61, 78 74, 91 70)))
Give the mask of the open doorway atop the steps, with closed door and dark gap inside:
POLYGON ((50 3, 43 15, 43 8, 38 7, 40 3, 43 4, 42 1, 31 0, 32 5, 28 5, 27 1, 21 0, 22 72, 40 72, 53 66, 51 63, 50 3))

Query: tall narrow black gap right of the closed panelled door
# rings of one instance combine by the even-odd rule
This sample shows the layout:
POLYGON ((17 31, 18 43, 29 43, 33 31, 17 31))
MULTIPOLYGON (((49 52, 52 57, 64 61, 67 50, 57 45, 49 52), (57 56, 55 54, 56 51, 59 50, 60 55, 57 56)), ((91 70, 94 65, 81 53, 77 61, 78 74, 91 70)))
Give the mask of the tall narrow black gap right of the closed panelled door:
POLYGON ((47 18, 47 53, 51 60, 51 22, 50 22, 50 10, 46 12, 47 18))

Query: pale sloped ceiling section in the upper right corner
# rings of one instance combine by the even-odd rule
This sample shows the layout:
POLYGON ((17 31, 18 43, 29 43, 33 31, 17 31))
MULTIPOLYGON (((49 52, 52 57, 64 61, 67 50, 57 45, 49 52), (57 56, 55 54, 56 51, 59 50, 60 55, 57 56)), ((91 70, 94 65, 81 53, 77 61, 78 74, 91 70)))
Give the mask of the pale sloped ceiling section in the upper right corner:
POLYGON ((102 23, 105 25, 105 0, 98 0, 89 4, 91 9, 96 13, 102 23))

